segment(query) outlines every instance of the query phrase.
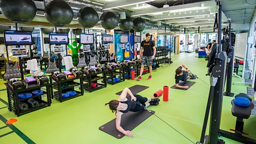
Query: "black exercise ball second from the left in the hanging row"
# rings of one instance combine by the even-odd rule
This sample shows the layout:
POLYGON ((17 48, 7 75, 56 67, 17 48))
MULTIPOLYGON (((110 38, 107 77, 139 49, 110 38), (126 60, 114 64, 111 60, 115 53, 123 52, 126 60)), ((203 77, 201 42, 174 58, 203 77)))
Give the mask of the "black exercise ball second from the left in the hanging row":
POLYGON ((67 26, 73 20, 74 12, 63 0, 53 0, 46 4, 44 15, 53 26, 67 26))

